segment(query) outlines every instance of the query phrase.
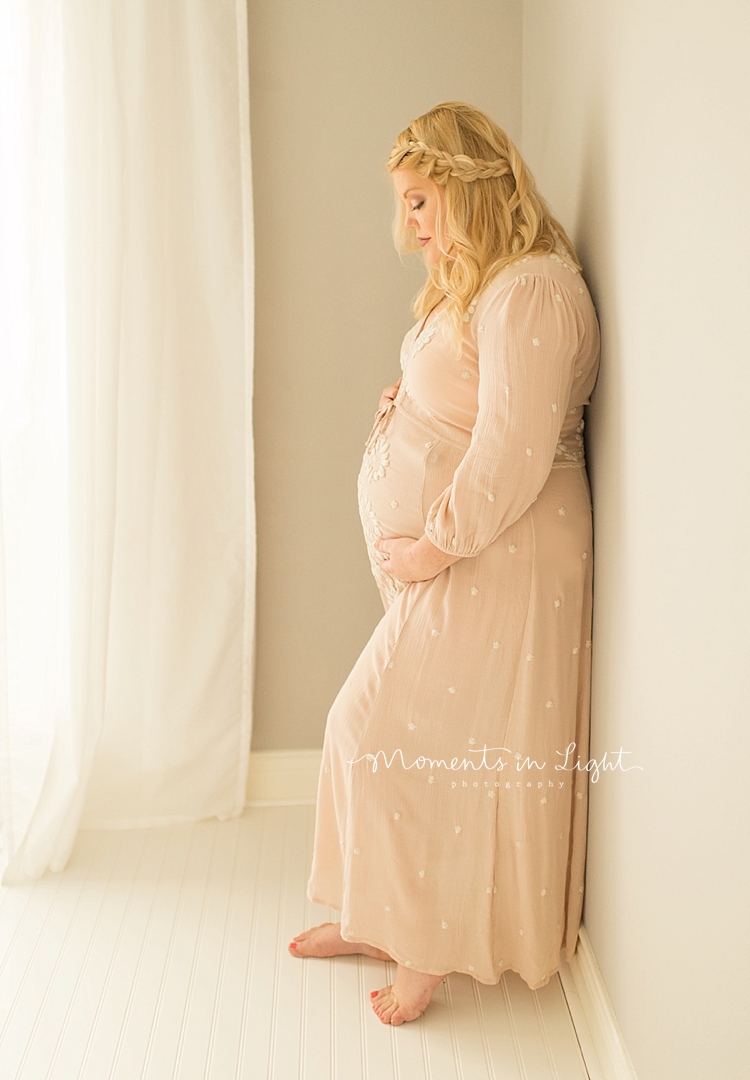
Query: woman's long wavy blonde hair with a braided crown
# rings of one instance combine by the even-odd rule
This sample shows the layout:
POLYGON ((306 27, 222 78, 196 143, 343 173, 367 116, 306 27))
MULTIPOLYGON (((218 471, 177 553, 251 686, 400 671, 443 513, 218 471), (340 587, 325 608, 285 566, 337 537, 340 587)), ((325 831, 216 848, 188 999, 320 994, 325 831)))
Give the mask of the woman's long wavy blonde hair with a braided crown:
MULTIPOLYGON (((557 252, 581 269, 575 248, 539 194, 534 177, 501 127, 480 109, 444 102, 413 120, 396 140, 388 170, 413 168, 439 187, 438 240, 443 255, 430 266, 414 300, 417 318, 447 296, 456 334, 474 297, 504 267, 526 255, 557 252)), ((400 252, 419 251, 397 195, 393 225, 400 252)))

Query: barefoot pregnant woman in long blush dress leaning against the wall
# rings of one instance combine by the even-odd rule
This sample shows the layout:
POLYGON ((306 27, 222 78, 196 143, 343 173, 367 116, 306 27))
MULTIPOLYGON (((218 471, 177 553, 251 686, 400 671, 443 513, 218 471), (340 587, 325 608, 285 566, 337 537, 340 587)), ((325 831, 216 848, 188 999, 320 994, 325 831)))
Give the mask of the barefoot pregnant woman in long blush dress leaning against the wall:
POLYGON ((296 956, 397 964, 414 1020, 450 972, 530 988, 584 901, 599 326, 573 244, 508 136, 446 103, 388 162, 427 282, 359 505, 385 615, 327 719, 296 956), (579 765, 577 765, 579 762, 579 765))

